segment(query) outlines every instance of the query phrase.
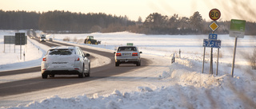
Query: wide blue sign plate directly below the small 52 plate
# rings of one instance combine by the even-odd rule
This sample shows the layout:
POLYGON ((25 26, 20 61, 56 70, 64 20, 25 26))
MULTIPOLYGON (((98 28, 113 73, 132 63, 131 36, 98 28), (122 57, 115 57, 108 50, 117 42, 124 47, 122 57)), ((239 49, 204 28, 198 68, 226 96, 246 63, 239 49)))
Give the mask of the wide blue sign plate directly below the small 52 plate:
POLYGON ((204 47, 221 48, 221 45, 222 45, 222 41, 220 41, 220 40, 203 39, 204 47))

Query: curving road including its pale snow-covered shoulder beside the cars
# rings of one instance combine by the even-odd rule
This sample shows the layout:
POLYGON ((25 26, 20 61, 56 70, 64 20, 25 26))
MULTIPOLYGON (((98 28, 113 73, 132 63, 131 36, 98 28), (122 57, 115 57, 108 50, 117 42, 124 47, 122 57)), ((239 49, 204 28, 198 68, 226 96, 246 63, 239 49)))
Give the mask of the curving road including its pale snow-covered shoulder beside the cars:
MULTIPOLYGON (((62 44, 60 42, 48 43, 51 46, 62 44)), ((120 67, 114 67, 114 62, 110 62, 114 57, 113 51, 103 49, 102 52, 95 53, 92 47, 90 47, 90 50, 88 50, 88 47, 81 47, 93 56, 89 78, 78 79, 77 76, 56 76, 53 79, 42 80, 41 72, 17 74, 19 71, 16 71, 13 72, 15 75, 9 74, 1 77, 2 80, 6 81, 0 83, 2 96, 0 97, 0 106, 14 107, 17 104, 40 101, 53 95, 66 98, 82 94, 93 96, 94 93, 105 95, 113 89, 133 91, 138 86, 149 84, 151 80, 158 80, 158 76, 162 72, 169 70, 170 60, 160 56, 142 54, 141 67, 136 67, 134 64, 121 64, 120 67), (94 53, 88 51, 94 51, 94 53), (102 64, 105 65, 102 66, 102 64)))

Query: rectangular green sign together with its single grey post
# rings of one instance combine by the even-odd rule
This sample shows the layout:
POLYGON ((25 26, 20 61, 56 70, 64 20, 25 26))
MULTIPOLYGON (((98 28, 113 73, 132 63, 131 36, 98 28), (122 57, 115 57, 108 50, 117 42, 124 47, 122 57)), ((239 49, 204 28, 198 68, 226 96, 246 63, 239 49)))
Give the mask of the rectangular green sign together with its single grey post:
POLYGON ((238 38, 243 38, 245 36, 245 31, 246 31, 246 21, 231 19, 230 37, 235 37, 233 63, 232 63, 232 71, 231 71, 232 77, 234 76, 234 60, 235 60, 235 53, 237 49, 237 41, 238 41, 238 38))

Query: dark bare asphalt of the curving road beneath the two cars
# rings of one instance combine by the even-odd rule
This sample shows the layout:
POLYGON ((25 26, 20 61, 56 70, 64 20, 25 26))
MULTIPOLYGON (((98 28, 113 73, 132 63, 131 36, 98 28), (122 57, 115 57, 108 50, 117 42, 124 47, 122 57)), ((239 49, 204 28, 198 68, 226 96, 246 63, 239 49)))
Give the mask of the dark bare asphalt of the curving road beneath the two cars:
MULTIPOLYGON (((33 33, 35 34, 35 33, 33 33)), ((30 34, 28 34, 30 35, 30 34)), ((39 41, 38 37, 35 37, 34 40, 39 41)), ((68 46, 66 43, 54 42, 47 43, 44 42, 44 45, 48 46, 58 46, 58 45, 65 45, 68 46), (57 45, 55 45, 57 44, 57 45)), ((26 92, 32 91, 40 91, 47 88, 58 88, 70 84, 79 84, 82 82, 88 82, 91 80, 98 80, 126 72, 130 72, 131 70, 146 67, 150 60, 142 58, 142 66, 136 66, 135 64, 125 64, 120 65, 119 67, 114 66, 114 53, 102 52, 95 49, 88 49, 88 48, 81 48, 86 53, 96 53, 102 56, 106 56, 110 58, 110 64, 105 64, 103 66, 97 68, 91 68, 90 77, 85 78, 78 78, 78 76, 57 76, 54 78, 42 79, 41 73, 38 73, 38 77, 30 78, 27 80, 18 80, 8 83, 0 84, 0 96, 6 95, 18 95, 26 92)), ((94 60, 96 58, 93 55, 90 55, 90 60, 94 60)), ((14 70, 14 71, 7 71, 7 72, 0 72, 0 76, 10 76, 10 75, 17 75, 22 73, 29 73, 29 72, 41 72, 40 66, 34 68, 24 68, 22 70, 14 70)))

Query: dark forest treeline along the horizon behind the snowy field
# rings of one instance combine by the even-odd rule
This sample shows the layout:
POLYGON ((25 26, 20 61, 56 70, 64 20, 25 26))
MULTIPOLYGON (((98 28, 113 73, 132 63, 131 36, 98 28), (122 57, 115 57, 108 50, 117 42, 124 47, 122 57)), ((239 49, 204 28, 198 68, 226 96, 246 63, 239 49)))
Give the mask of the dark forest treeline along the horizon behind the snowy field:
MULTIPOLYGON (((0 10, 0 29, 40 29, 45 33, 111 33, 129 31, 145 34, 207 34, 210 22, 199 12, 190 18, 153 13, 142 21, 104 13, 71 13, 69 11, 26 12, 0 10)), ((230 21, 218 21, 217 33, 229 33, 230 21)), ((256 35, 256 23, 246 21, 246 34, 256 35)))

